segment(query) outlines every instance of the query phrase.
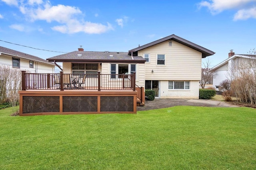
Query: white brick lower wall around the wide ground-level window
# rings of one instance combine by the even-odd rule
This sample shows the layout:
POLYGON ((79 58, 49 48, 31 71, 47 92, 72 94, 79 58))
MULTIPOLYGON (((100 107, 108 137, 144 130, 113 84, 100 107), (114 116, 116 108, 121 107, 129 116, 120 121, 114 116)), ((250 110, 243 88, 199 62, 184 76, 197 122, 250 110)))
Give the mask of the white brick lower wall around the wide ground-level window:
MULTIPOLYGON (((172 80, 170 80, 172 81, 172 80)), ((160 81, 160 98, 174 99, 198 99, 199 98, 199 81, 190 81, 189 90, 169 90, 168 81, 160 81)))

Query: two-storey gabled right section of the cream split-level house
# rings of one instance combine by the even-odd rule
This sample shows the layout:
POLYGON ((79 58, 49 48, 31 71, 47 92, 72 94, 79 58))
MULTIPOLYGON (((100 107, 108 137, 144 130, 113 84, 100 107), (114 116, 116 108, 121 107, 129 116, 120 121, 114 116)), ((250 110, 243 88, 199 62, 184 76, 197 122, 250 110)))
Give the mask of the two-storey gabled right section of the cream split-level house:
POLYGON ((198 99, 202 58, 214 54, 176 35, 130 51, 146 59, 144 87, 154 90, 156 98, 198 99))

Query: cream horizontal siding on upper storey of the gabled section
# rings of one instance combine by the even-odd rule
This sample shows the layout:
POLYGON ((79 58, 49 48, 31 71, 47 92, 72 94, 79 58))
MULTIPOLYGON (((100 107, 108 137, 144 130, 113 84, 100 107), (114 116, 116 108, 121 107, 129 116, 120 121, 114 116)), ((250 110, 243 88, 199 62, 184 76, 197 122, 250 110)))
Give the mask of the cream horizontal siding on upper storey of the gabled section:
POLYGON ((138 51, 138 56, 150 53, 150 62, 145 63, 146 80, 200 80, 202 53, 172 41, 156 44, 138 51), (166 55, 166 64, 157 65, 157 54, 166 55), (154 70, 154 73, 152 73, 154 70))

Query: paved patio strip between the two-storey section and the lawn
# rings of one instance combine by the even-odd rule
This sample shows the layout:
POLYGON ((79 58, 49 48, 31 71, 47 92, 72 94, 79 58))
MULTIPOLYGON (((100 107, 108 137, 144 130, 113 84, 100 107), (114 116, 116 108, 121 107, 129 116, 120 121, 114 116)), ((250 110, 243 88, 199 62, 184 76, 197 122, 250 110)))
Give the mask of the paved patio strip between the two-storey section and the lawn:
POLYGON ((148 101, 145 106, 137 107, 140 110, 160 109, 172 106, 204 106, 204 107, 239 107, 233 104, 215 100, 202 100, 202 99, 155 99, 148 101))

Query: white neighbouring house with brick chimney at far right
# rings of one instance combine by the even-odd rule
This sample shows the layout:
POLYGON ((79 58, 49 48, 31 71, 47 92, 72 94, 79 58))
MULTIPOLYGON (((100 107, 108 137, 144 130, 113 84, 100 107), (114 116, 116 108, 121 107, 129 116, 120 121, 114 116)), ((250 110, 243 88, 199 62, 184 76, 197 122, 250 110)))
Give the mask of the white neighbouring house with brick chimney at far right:
POLYGON ((216 76, 213 78, 213 87, 218 90, 220 82, 229 78, 228 72, 232 68, 239 68, 242 65, 246 66, 246 63, 248 63, 252 57, 256 57, 256 55, 235 54, 233 51, 230 51, 230 53, 228 53, 228 59, 212 67, 212 70, 216 72, 216 76))

